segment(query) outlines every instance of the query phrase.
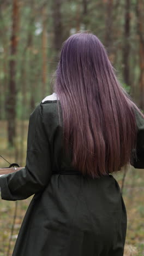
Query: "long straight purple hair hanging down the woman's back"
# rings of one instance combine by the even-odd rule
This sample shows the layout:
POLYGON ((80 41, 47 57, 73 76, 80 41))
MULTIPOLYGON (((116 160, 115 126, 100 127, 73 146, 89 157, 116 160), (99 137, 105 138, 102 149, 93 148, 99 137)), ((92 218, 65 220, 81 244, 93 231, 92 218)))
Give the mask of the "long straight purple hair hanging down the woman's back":
POLYGON ((79 31, 64 41, 54 91, 73 166, 93 178, 127 167, 136 146, 136 106, 118 82, 97 36, 79 31))

